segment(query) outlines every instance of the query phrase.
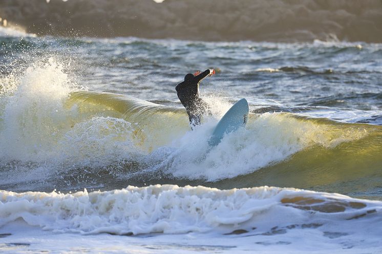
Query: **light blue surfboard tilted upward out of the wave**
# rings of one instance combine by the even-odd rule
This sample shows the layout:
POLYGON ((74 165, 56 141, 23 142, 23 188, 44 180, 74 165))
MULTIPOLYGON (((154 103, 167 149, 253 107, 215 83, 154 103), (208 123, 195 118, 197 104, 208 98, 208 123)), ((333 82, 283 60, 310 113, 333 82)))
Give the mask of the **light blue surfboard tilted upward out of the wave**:
POLYGON ((215 127, 208 144, 216 146, 221 142, 224 134, 236 131, 239 127, 244 127, 247 123, 248 114, 249 106, 246 99, 241 99, 235 103, 215 127))

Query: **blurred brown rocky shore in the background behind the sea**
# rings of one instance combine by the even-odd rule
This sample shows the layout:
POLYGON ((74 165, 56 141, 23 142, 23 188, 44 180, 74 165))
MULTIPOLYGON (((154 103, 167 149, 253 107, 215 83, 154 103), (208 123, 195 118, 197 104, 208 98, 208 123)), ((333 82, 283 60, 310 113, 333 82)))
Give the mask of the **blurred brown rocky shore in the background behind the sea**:
POLYGON ((0 3, 0 16, 37 34, 192 40, 382 42, 381 13, 378 0, 0 3))

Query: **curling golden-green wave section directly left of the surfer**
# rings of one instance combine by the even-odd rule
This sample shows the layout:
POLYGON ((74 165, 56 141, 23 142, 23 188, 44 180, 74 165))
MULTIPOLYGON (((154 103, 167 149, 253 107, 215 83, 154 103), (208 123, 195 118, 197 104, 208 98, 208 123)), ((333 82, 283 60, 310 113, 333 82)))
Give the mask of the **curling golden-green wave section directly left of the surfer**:
POLYGON ((133 97, 78 91, 66 102, 68 109, 74 106, 81 116, 115 117, 132 123, 134 131, 130 138, 145 153, 168 145, 189 129, 185 110, 133 97))

